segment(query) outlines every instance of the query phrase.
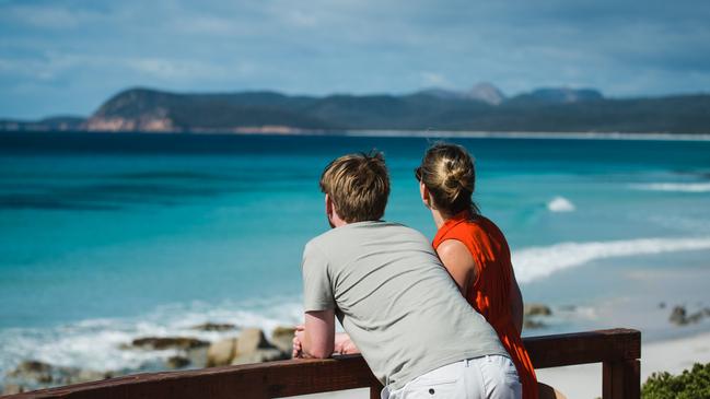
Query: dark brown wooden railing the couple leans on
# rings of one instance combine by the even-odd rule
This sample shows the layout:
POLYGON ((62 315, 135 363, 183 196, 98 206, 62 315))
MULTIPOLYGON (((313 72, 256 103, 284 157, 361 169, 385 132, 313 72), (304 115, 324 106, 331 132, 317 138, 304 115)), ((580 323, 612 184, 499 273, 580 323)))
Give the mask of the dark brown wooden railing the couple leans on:
MULTIPOLYGON (((603 363, 604 399, 640 397, 641 332, 613 329, 525 338, 535 368, 603 363)), ((7 397, 66 399, 280 398, 382 386, 359 355, 137 374, 7 397)))

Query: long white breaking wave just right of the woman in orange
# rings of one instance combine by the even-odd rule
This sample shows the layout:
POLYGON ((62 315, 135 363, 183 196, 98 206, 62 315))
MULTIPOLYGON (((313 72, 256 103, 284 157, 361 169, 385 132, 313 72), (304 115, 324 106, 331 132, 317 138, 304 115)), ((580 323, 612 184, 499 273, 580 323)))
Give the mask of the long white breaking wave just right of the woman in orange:
POLYGON ((513 251, 512 261, 517 281, 527 283, 596 259, 698 249, 710 249, 710 237, 561 243, 513 251))

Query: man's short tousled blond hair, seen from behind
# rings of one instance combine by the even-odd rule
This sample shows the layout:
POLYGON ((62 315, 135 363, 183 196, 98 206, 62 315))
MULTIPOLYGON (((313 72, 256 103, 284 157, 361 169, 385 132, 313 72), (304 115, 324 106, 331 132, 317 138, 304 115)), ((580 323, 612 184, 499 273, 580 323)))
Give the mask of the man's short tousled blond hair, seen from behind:
POLYGON ((348 223, 376 221, 385 214, 389 175, 381 152, 342 155, 321 175, 321 190, 348 223))

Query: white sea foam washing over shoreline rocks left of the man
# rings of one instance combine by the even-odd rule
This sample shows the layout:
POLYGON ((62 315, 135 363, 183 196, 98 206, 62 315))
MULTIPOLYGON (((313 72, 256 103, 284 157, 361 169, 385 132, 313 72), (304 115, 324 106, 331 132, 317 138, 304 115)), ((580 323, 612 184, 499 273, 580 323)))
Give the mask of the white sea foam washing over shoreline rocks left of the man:
POLYGON ((121 349, 136 338, 191 337, 216 341, 238 331, 199 331, 203 322, 230 322, 261 328, 267 336, 278 326, 292 326, 303 318, 300 297, 277 297, 252 303, 193 303, 161 306, 150 314, 130 318, 85 319, 47 328, 0 330, 0 385, 7 372, 23 360, 82 369, 150 371, 175 350, 121 349), (148 368, 147 368, 148 367, 148 368))

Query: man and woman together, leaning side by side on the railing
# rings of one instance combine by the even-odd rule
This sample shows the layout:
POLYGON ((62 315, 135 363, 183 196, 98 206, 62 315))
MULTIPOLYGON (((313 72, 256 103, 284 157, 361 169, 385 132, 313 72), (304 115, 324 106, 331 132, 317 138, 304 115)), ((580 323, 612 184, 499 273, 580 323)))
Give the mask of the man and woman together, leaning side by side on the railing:
POLYGON ((304 324, 294 357, 361 353, 382 398, 559 395, 536 380, 521 339, 523 301, 505 237, 472 200, 475 168, 454 144, 415 172, 439 228, 382 221, 389 178, 380 153, 333 161, 321 177, 333 227, 303 254, 304 324), (335 332, 338 317, 346 333, 335 332))

